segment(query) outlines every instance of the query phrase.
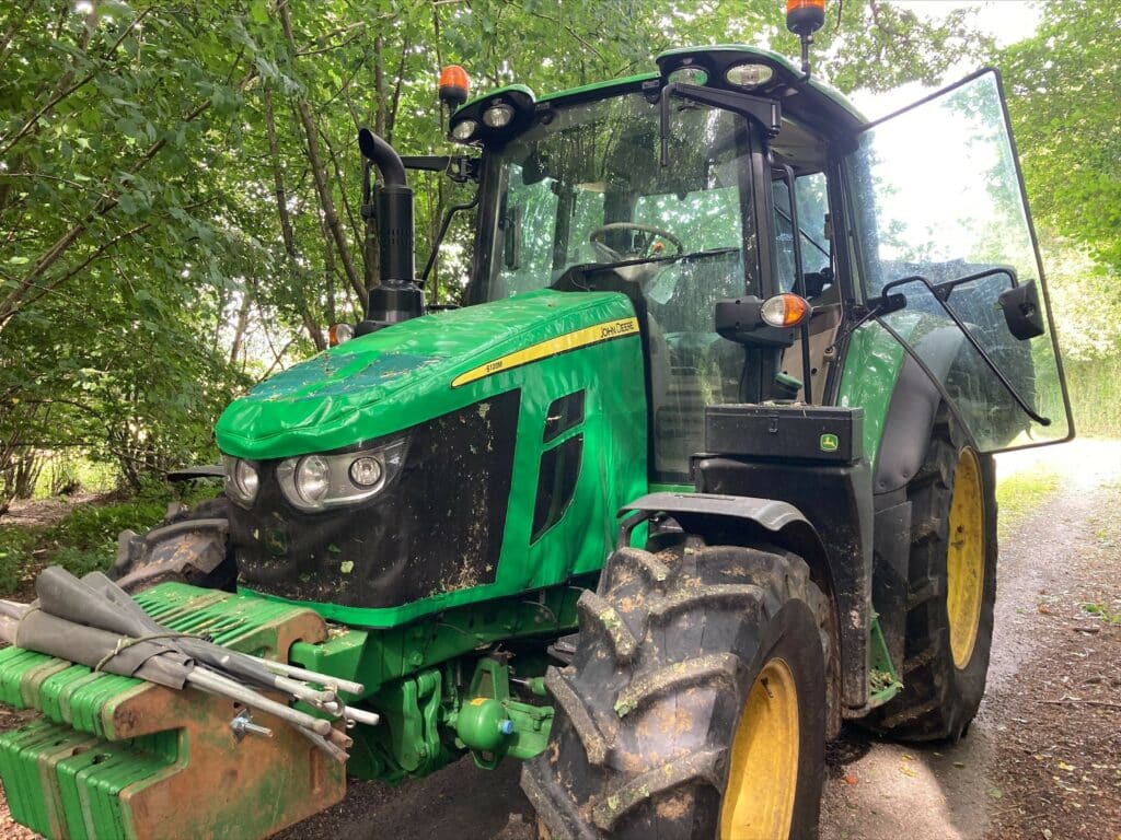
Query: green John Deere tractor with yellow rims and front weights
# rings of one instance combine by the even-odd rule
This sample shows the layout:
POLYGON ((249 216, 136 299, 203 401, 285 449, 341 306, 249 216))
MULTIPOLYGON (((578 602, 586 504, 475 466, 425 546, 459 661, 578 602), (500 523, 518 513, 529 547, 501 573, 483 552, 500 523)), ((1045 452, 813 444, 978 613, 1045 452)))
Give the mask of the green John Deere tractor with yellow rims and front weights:
POLYGON ((743 46, 544 96, 461 73, 463 153, 360 138, 353 337, 231 404, 223 497, 114 572, 165 635, 337 681, 345 774, 271 713, 9 647, 18 821, 263 837, 470 754, 524 760, 556 840, 807 838, 844 721, 969 729, 992 456, 1073 435, 999 75, 869 122, 743 46), (425 305, 409 168, 478 185, 460 307, 425 305))

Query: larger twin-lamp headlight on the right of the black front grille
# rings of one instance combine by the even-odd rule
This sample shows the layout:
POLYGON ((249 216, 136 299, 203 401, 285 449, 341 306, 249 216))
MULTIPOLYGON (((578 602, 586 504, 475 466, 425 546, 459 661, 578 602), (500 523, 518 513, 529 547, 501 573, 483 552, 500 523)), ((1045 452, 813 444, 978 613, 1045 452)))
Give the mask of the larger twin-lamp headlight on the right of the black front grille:
POLYGON ((361 502, 377 495, 400 472, 406 441, 340 455, 305 455, 277 466, 285 498, 300 511, 361 502))

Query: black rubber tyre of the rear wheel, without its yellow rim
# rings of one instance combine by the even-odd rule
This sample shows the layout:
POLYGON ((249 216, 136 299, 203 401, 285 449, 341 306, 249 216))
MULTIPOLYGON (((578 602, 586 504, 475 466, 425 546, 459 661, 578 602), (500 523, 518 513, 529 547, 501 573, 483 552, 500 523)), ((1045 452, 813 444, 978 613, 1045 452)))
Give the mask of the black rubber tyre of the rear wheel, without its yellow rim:
POLYGON ((907 487, 911 548, 900 669, 904 689, 863 721, 874 731, 900 740, 957 740, 969 729, 984 696, 997 599, 995 469, 992 456, 973 452, 980 472, 984 571, 976 637, 967 662, 960 668, 951 643, 947 558, 951 541, 960 539, 949 533, 949 510, 963 451, 972 449, 951 421, 939 418, 926 460, 907 487))

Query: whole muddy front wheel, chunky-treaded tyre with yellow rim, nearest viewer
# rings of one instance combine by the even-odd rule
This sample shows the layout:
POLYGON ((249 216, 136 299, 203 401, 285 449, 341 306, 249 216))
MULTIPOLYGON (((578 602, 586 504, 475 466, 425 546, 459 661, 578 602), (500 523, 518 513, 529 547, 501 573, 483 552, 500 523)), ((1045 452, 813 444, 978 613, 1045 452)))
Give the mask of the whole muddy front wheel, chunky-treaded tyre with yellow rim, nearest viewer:
POLYGON ((779 550, 621 549, 580 601, 556 718, 522 771, 543 837, 814 838, 826 601, 779 550))

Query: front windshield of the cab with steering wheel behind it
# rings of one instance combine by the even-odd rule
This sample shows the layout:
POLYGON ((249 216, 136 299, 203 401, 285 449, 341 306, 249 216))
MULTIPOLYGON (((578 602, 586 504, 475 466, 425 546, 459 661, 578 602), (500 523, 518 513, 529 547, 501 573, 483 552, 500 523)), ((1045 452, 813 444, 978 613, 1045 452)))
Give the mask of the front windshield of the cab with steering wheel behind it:
POLYGON ((759 288, 760 141, 744 118, 683 101, 673 103, 667 166, 660 136, 657 103, 636 92, 557 108, 491 152, 485 202, 495 212, 469 300, 549 287, 641 297, 651 478, 685 482, 704 407, 739 399, 743 348, 715 333, 713 312, 759 288))

